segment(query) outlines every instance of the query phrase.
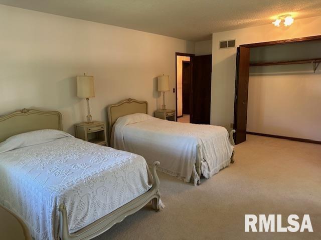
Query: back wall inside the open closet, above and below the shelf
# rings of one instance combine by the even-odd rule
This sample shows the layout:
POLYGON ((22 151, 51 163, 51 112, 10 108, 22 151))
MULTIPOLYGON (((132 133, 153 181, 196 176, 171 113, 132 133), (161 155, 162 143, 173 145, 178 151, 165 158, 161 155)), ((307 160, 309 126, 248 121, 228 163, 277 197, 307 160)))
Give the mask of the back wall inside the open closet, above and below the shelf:
MULTIPOLYGON (((321 57, 321 41, 251 49, 251 62, 321 57)), ((311 63, 250 67, 247 130, 321 140, 321 67, 311 63)))

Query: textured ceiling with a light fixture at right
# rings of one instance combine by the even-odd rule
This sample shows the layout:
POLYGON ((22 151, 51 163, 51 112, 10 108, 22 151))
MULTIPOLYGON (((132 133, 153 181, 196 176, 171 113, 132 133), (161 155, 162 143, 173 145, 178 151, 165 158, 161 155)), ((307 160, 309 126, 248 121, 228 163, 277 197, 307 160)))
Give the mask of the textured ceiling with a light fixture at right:
POLYGON ((187 40, 212 32, 271 23, 275 15, 295 19, 321 15, 321 0, 0 0, 57 15, 96 21, 187 40))

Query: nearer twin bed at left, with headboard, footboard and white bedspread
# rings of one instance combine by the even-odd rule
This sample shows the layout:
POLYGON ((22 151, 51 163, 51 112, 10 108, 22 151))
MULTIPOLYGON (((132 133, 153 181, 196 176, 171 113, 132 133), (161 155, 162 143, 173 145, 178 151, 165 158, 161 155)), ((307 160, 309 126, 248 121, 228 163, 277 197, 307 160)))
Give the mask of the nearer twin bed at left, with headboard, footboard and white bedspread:
POLYGON ((36 240, 91 239, 145 204, 159 210, 153 163, 62 130, 58 111, 23 109, 0 117, 0 204, 36 240))

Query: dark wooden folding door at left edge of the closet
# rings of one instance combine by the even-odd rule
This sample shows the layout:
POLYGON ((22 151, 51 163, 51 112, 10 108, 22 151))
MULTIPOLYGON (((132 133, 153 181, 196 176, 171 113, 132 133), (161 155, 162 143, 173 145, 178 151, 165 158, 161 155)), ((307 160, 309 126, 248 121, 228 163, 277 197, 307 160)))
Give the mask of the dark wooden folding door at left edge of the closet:
POLYGON ((249 87, 250 48, 237 47, 234 99, 234 124, 236 144, 246 140, 247 95, 249 87))

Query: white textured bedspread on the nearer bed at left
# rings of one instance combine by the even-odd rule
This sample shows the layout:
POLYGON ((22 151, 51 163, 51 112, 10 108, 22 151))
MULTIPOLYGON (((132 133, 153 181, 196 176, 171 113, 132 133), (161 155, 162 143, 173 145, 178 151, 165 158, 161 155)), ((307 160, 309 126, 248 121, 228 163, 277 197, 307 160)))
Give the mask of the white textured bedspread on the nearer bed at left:
POLYGON ((0 143, 0 204, 24 219, 36 240, 56 239, 60 203, 74 232, 151 186, 144 158, 133 153, 57 130, 8 140, 0 143))

